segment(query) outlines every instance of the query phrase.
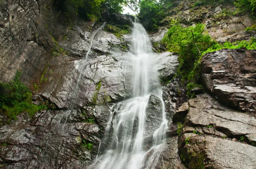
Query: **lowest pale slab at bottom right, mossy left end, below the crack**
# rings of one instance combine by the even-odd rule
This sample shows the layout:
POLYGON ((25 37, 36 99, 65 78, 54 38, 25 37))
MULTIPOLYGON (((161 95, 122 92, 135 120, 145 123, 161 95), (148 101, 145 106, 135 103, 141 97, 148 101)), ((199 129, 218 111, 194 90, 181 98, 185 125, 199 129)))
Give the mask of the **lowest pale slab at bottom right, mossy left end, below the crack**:
POLYGON ((242 168, 256 167, 256 147, 229 139, 207 135, 184 134, 179 153, 186 166, 192 168, 242 168))

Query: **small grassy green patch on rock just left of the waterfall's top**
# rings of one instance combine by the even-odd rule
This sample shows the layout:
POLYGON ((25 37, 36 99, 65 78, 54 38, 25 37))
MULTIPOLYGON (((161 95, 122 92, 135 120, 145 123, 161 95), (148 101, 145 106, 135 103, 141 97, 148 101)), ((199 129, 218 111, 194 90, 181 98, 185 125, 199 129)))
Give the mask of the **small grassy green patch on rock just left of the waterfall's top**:
POLYGON ((107 25, 104 30, 113 33, 116 37, 121 37, 121 34, 131 33, 129 25, 107 25))

